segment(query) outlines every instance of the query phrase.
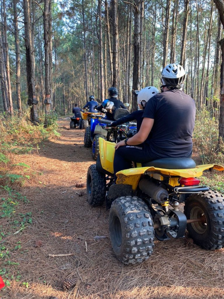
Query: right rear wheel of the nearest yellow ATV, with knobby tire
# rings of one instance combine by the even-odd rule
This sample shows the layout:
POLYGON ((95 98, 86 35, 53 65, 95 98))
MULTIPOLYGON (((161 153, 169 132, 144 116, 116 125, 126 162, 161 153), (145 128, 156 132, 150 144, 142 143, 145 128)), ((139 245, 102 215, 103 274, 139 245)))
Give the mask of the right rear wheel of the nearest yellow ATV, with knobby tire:
POLYGON ((187 224, 189 237, 195 244, 210 250, 224 247, 224 201, 221 194, 210 190, 190 195, 184 213, 187 219, 202 219, 187 224))

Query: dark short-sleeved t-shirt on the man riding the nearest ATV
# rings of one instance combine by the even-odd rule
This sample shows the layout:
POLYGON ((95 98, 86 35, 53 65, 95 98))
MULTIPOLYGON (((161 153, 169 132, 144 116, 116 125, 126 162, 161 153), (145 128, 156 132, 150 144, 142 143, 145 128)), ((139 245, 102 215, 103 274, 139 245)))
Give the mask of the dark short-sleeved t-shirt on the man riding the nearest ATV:
POLYGON ((154 119, 150 138, 146 139, 158 158, 189 157, 195 123, 194 100, 182 90, 155 95, 148 101, 143 118, 154 119))

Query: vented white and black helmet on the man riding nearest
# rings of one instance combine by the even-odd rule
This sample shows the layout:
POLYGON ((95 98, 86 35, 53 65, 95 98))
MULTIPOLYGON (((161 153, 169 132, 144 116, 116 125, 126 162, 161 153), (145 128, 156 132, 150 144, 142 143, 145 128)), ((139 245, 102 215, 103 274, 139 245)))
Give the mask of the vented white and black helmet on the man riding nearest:
POLYGON ((171 63, 162 70, 162 84, 168 87, 182 87, 185 80, 185 70, 179 64, 171 63))

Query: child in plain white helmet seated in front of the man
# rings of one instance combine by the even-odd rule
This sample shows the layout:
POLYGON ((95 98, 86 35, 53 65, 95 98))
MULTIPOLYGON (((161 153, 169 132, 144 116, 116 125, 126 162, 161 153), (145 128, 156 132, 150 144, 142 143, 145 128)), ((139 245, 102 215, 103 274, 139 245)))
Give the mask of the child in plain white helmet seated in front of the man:
POLYGON ((126 116, 123 116, 122 118, 119 118, 116 121, 113 121, 113 123, 111 123, 111 126, 116 127, 117 125, 121 125, 122 123, 128 123, 129 121, 136 120, 138 132, 142 124, 142 115, 148 100, 158 93, 158 89, 154 86, 147 86, 140 90, 137 96, 137 103, 140 110, 136 110, 126 116))

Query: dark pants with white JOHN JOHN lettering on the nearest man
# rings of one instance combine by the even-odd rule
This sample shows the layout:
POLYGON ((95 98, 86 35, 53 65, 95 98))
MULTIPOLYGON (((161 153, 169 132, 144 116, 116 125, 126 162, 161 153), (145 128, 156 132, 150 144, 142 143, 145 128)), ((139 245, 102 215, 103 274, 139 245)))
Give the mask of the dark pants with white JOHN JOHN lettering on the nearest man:
POLYGON ((113 160, 114 182, 116 182, 118 171, 131 168, 131 161, 146 163, 158 158, 149 150, 149 145, 145 143, 119 147, 115 150, 113 160))

